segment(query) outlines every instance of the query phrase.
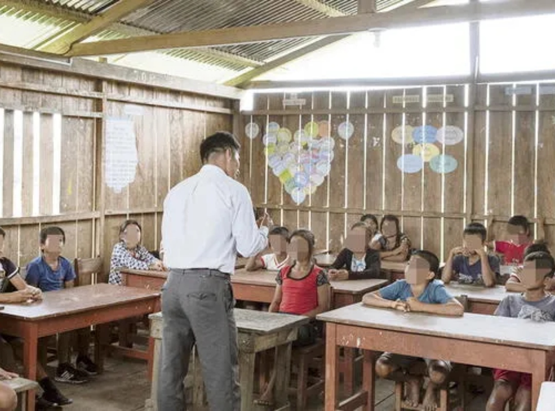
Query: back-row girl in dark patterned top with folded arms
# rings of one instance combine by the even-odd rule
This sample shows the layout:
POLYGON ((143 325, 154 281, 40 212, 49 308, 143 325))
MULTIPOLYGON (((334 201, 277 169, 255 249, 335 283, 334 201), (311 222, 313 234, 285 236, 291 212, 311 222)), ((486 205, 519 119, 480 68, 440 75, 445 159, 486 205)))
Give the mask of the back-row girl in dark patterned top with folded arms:
POLYGON ((411 241, 399 228, 399 220, 387 214, 380 224, 380 236, 372 240, 370 247, 380 251, 380 258, 388 261, 406 261, 410 257, 411 241))

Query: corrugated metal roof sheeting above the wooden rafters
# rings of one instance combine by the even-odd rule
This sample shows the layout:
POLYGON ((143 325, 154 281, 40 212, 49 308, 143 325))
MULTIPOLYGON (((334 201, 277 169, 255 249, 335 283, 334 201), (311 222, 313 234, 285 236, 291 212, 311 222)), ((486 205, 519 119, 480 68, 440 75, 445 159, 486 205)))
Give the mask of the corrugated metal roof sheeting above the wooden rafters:
MULTIPOLYGON (((322 7, 310 7, 311 2, 314 4, 316 0, 156 0, 147 7, 130 13, 89 40, 307 21, 327 18, 326 11, 329 10, 342 14, 355 14, 357 10, 357 0, 319 1, 322 7)), ((392 4, 404 1, 406 0, 378 0, 377 8, 391 7, 392 4)), ((4 36, 0 35, 0 41, 37 48, 45 40, 67 31, 78 22, 102 14, 117 2, 118 0, 7 1, 9 6, 0 6, 0 17, 26 22, 25 30, 31 31, 32 35, 27 33, 28 35, 22 38, 14 38, 8 42, 3 38, 4 33, 4 36)), ((206 65, 219 67, 226 72, 226 77, 229 77, 230 72, 238 73, 257 67, 312 40, 314 39, 285 39, 218 48, 173 49, 160 53, 197 62, 199 70, 206 65)), ((122 59, 116 58, 120 61, 122 59)), ((191 67, 189 64, 187 66, 191 67)))

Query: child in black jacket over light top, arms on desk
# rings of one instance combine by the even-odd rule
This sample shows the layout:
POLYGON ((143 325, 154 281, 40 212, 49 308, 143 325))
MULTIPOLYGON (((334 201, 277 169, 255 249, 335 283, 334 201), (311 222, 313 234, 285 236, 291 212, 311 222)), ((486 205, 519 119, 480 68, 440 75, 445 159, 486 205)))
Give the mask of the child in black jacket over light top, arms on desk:
POLYGON ((380 253, 372 250, 371 231, 364 222, 356 222, 345 239, 345 248, 339 252, 327 275, 330 280, 361 280, 385 278, 380 271, 380 253))

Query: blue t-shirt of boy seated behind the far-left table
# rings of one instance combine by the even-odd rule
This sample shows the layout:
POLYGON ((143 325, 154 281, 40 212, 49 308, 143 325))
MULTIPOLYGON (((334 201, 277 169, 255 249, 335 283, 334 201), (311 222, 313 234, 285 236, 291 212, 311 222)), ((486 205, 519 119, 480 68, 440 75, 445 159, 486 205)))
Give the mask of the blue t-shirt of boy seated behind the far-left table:
POLYGON ((58 270, 56 271, 52 270, 42 256, 35 258, 27 265, 25 281, 45 292, 62 290, 64 282, 74 279, 73 267, 64 257, 59 257, 58 270))

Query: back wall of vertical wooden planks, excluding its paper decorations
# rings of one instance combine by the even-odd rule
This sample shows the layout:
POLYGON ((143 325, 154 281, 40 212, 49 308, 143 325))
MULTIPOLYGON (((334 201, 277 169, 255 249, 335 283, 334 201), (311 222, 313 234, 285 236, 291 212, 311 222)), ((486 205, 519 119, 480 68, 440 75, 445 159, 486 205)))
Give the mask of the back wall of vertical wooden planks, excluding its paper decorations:
POLYGON ((513 214, 526 215, 533 223, 532 232, 555 249, 555 177, 549 171, 555 156, 555 95, 543 93, 551 93, 553 84, 527 84, 526 94, 518 94, 519 86, 305 92, 297 93, 305 105, 285 108, 281 100, 289 95, 258 93, 253 110, 241 116, 239 137, 244 155, 251 160, 243 163, 241 175, 249 176, 243 181, 254 204, 268 209, 274 221, 290 229, 309 227, 319 247, 334 251, 363 212, 400 216, 413 246, 426 247, 443 260, 460 245, 467 222, 489 222, 490 237, 503 238, 513 214), (428 94, 443 95, 443 102, 423 104, 428 94), (393 97, 402 95, 418 95, 420 102, 393 103, 393 97), (355 133, 345 141, 336 130, 347 118, 355 133), (269 121, 294 133, 311 119, 330 122, 335 159, 324 184, 296 206, 268 168, 261 136, 269 121), (254 140, 244 134, 250 121, 261 128, 254 140), (458 168, 436 174, 426 163, 420 172, 402 174, 397 158, 411 148, 391 139, 392 130, 400 125, 461 128, 462 143, 440 145, 441 154, 458 160, 458 168))

